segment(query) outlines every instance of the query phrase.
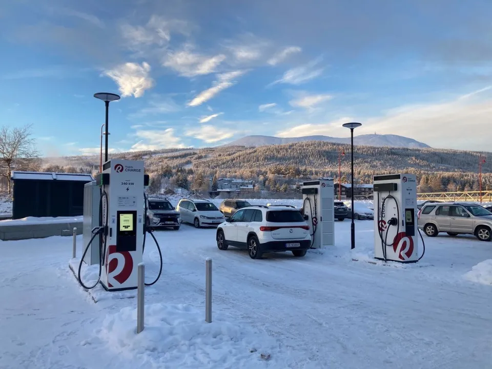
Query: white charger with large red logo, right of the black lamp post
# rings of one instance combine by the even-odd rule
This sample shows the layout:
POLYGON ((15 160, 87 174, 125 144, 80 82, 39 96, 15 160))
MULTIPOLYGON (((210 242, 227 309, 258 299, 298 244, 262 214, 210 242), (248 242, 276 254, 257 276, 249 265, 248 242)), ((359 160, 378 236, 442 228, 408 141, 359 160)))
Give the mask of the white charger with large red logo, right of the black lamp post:
MULTIPOLYGON (((414 174, 374 176, 374 256, 417 262, 417 178, 414 174)), ((423 256, 423 255, 422 255, 423 256)))

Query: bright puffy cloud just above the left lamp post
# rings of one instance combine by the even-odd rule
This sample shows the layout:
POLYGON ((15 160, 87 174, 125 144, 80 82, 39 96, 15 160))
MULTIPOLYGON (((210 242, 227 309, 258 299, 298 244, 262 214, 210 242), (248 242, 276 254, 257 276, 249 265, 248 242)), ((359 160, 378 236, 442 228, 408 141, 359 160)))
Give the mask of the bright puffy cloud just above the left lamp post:
POLYGON ((154 80, 150 77, 150 65, 144 61, 142 65, 138 63, 121 64, 114 69, 104 72, 112 78, 119 86, 122 97, 135 96, 141 97, 145 90, 154 86, 154 80))

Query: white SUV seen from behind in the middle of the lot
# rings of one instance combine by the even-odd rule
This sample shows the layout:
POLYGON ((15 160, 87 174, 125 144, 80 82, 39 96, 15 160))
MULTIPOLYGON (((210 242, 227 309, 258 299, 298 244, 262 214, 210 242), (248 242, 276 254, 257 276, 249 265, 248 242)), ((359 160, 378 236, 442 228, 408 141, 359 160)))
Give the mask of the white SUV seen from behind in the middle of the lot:
POLYGON ((238 210, 217 228, 217 247, 247 249, 252 259, 265 252, 292 251, 301 257, 311 248, 309 226, 299 209, 251 206, 238 210))

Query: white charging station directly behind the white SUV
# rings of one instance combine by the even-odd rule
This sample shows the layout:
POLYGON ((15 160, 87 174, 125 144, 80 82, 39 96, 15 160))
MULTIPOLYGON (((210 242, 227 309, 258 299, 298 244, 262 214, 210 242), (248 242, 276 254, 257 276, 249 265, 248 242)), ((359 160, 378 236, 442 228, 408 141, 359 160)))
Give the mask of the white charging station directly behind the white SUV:
POLYGON ((333 178, 302 183, 302 207, 308 216, 313 249, 335 244, 334 190, 333 178))

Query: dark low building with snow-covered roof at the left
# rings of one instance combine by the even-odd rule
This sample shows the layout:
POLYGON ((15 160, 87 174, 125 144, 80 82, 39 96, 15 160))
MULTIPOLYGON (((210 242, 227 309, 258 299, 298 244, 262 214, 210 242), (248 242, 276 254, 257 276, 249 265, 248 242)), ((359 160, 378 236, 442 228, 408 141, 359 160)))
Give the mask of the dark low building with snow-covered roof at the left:
POLYGON ((12 172, 12 219, 83 215, 90 174, 12 172))

